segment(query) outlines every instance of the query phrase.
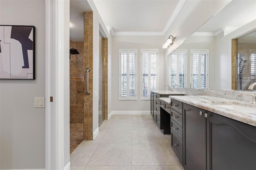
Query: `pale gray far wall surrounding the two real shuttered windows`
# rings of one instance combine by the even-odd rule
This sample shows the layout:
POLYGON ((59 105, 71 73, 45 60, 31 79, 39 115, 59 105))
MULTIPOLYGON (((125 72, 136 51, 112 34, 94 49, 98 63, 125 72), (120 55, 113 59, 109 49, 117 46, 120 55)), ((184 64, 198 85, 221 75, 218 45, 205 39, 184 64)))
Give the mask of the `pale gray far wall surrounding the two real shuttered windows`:
POLYGON ((158 89, 164 89, 162 36, 112 36, 112 111, 150 111, 150 101, 140 100, 140 49, 158 49, 158 89), (137 100, 120 101, 119 49, 137 49, 137 100))

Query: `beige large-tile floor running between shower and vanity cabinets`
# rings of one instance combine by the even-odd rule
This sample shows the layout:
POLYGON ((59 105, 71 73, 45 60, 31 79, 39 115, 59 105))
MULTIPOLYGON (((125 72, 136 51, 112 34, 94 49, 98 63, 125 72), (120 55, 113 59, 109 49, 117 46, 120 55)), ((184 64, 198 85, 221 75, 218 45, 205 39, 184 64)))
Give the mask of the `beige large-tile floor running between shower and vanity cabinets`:
POLYGON ((184 170, 151 115, 112 115, 70 154, 71 170, 184 170))

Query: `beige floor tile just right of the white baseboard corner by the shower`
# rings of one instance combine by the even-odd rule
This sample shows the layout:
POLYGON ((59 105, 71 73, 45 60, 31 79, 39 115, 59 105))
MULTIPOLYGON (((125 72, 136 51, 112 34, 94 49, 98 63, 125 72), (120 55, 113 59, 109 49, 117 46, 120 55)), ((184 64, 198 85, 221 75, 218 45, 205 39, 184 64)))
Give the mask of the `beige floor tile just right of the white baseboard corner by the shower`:
POLYGON ((132 131, 108 130, 100 143, 132 143, 132 131))

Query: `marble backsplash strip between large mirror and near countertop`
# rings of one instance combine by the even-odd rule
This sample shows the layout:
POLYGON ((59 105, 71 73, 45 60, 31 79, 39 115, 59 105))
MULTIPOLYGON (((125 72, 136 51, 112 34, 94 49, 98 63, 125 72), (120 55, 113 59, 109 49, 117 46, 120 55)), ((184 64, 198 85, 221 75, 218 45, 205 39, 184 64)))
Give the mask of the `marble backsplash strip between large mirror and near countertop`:
POLYGON ((204 95, 211 97, 220 97, 224 99, 232 99, 244 102, 251 102, 252 96, 256 95, 256 91, 236 91, 236 90, 215 90, 215 89, 192 89, 192 88, 172 88, 172 91, 182 92, 185 95, 204 95))

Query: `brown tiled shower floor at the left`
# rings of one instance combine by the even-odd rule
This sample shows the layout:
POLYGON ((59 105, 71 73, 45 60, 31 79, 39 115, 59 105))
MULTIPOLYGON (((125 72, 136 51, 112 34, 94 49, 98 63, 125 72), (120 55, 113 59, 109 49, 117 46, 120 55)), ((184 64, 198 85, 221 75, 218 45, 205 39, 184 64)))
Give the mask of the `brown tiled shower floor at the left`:
POLYGON ((84 124, 70 123, 70 153, 84 140, 84 124))

